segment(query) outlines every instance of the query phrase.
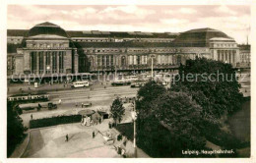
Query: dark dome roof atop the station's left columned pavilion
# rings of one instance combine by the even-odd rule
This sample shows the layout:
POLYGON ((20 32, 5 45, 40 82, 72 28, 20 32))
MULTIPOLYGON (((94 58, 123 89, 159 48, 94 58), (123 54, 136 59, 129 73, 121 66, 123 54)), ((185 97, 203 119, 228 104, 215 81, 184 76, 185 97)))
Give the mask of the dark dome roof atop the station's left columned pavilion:
POLYGON ((54 24, 45 22, 32 27, 29 31, 29 36, 34 35, 59 35, 63 37, 69 37, 66 31, 54 24))

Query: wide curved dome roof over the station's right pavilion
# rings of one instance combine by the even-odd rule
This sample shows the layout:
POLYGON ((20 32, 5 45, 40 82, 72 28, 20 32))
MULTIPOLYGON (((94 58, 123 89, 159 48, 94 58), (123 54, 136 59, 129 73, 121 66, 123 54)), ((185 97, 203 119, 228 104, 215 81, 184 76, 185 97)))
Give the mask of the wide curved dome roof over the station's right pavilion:
POLYGON ((234 41, 233 38, 226 35, 223 31, 207 27, 182 32, 173 43, 175 46, 206 47, 209 46, 211 38, 226 38, 234 41))

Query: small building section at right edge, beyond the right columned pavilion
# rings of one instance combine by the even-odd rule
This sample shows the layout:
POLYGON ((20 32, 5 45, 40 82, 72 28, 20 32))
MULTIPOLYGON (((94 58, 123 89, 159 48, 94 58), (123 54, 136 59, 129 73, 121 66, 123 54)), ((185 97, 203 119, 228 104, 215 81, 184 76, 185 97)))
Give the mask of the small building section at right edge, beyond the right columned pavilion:
POLYGON ((240 64, 241 68, 250 68, 251 66, 251 45, 241 44, 239 47, 240 64))

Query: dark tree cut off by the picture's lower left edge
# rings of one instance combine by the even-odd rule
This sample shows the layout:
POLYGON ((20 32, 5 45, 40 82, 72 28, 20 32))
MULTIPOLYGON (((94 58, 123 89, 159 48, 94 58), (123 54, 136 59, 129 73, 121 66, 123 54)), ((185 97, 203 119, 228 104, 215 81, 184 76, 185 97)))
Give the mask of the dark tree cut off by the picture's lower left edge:
POLYGON ((7 156, 9 157, 16 145, 24 138, 23 120, 15 110, 14 102, 7 103, 7 156))

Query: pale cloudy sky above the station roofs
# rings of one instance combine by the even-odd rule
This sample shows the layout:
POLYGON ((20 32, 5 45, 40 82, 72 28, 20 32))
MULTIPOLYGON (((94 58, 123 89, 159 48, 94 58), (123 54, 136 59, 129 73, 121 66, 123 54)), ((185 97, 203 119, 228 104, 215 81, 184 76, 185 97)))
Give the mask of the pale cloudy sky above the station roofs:
POLYGON ((250 32, 250 7, 8 6, 8 28, 29 29, 42 22, 51 22, 69 30, 180 32, 212 27, 224 31, 238 43, 246 43, 250 32))

